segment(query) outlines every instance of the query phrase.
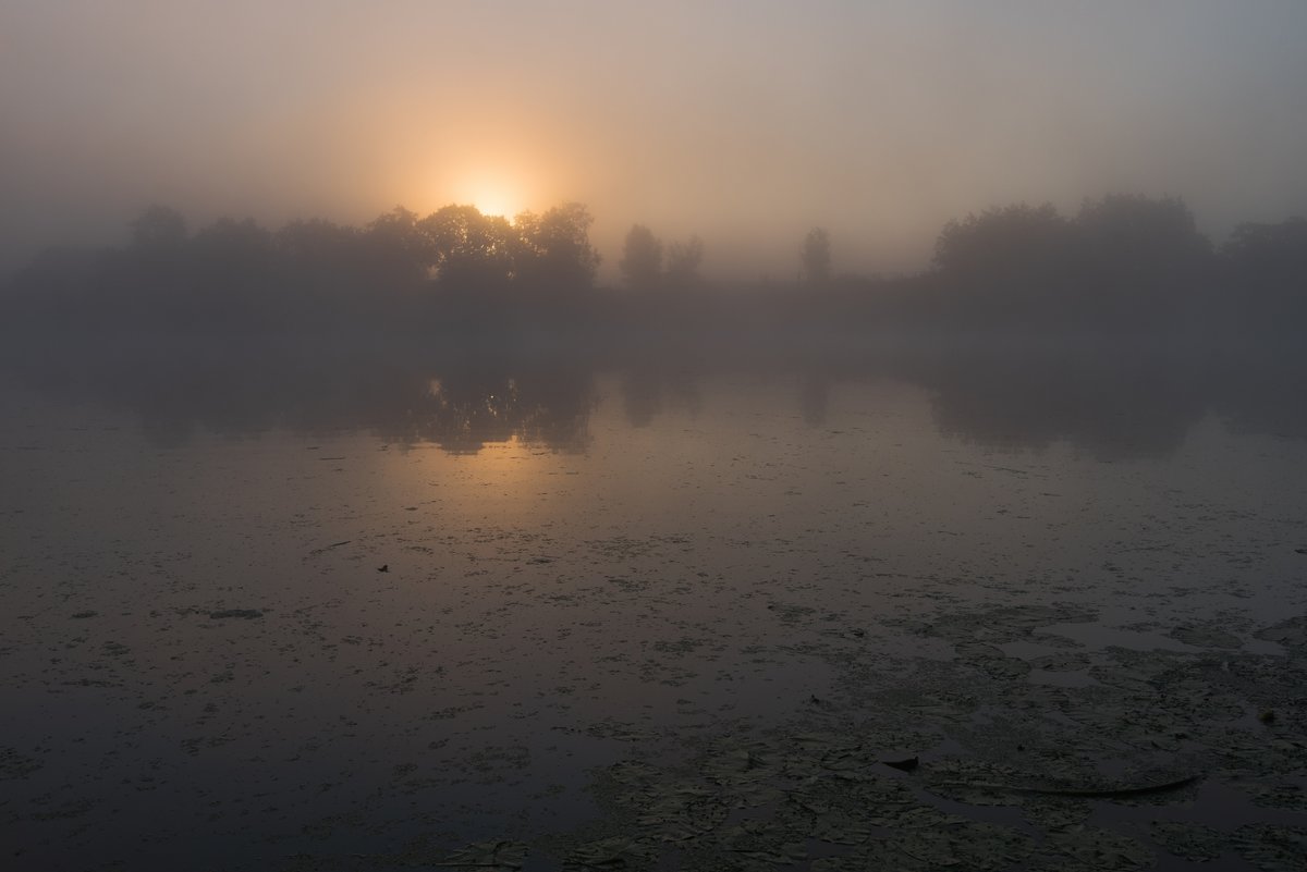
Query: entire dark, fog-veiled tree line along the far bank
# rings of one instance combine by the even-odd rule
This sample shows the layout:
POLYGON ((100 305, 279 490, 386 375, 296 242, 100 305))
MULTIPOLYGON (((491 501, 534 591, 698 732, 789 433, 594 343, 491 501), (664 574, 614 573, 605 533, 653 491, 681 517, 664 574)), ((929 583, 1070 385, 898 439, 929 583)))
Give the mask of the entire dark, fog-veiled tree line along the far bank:
POLYGON ((9 283, 10 321, 63 326, 414 330, 652 324, 840 329, 949 326, 1145 329, 1240 324, 1282 329, 1307 317, 1307 219, 1244 223, 1221 247, 1179 198, 1115 195, 1073 215, 1014 204, 948 222, 918 275, 836 273, 813 227, 789 282, 711 283, 697 235, 626 235, 620 288, 596 287, 592 217, 576 202, 514 219, 448 205, 396 208, 362 227, 323 219, 272 231, 221 219, 191 232, 152 206, 127 245, 51 249, 9 283))

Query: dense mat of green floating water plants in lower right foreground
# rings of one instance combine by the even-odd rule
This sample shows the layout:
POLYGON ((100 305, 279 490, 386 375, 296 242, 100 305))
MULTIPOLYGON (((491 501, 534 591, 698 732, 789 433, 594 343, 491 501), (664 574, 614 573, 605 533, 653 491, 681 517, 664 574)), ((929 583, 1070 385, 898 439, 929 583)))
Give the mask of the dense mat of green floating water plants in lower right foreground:
POLYGON ((1175 632, 1205 642, 1192 654, 1057 654, 1053 664, 1098 679, 1085 687, 1034 684, 1031 664, 999 647, 1093 619, 1013 607, 916 624, 953 644, 950 662, 890 663, 830 637, 809 650, 838 664, 836 696, 681 758, 643 756, 639 734, 597 724, 596 735, 635 739, 627 760, 593 774, 601 818, 529 850, 566 869, 1124 872, 1161 854, 1300 868, 1307 828, 1227 825, 1221 803, 1235 791, 1280 816, 1307 805, 1302 619, 1257 632, 1283 657, 1193 627, 1175 632), (1265 706, 1276 718, 1256 717, 1265 706), (1136 807, 1157 820, 1138 822, 1136 807))

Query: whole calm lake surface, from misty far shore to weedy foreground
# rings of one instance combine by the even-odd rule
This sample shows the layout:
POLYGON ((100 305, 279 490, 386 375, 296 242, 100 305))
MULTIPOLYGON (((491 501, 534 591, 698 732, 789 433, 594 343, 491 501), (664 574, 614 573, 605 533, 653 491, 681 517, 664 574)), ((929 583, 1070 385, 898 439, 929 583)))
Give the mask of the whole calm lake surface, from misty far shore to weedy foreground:
POLYGON ((1303 868, 1307 368, 1145 358, 10 366, 0 865, 1303 868))

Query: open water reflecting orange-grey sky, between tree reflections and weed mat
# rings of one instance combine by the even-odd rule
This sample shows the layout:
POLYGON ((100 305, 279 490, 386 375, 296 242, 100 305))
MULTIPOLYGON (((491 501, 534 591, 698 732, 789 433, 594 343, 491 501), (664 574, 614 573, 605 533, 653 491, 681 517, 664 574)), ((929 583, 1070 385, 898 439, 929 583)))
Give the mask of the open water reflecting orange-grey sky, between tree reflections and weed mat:
POLYGON ((893 671, 949 659, 912 627, 970 610, 1161 638, 1304 606, 1307 444, 1201 405, 1170 450, 1104 459, 941 431, 890 379, 817 413, 792 376, 515 379, 501 406, 422 384, 359 431, 322 403, 163 443, 112 402, 9 396, 0 723, 43 768, 3 795, 30 858, 127 856, 142 821, 231 863, 251 828, 278 855, 529 835, 593 813, 586 769, 633 736, 681 753, 836 693, 822 646, 893 671), (480 411, 438 432, 468 441, 417 437, 451 402, 480 411))

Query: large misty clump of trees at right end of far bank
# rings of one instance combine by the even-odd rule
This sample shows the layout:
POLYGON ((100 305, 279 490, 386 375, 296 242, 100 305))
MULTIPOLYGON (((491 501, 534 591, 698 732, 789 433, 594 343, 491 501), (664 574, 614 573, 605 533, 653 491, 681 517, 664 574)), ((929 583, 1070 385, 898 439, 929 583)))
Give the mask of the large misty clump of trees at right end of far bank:
POLYGON ((1018 204, 945 225, 933 279, 957 321, 1282 326, 1307 316, 1307 219, 1243 223, 1217 247, 1178 197, 1112 195, 1074 215, 1018 204))

